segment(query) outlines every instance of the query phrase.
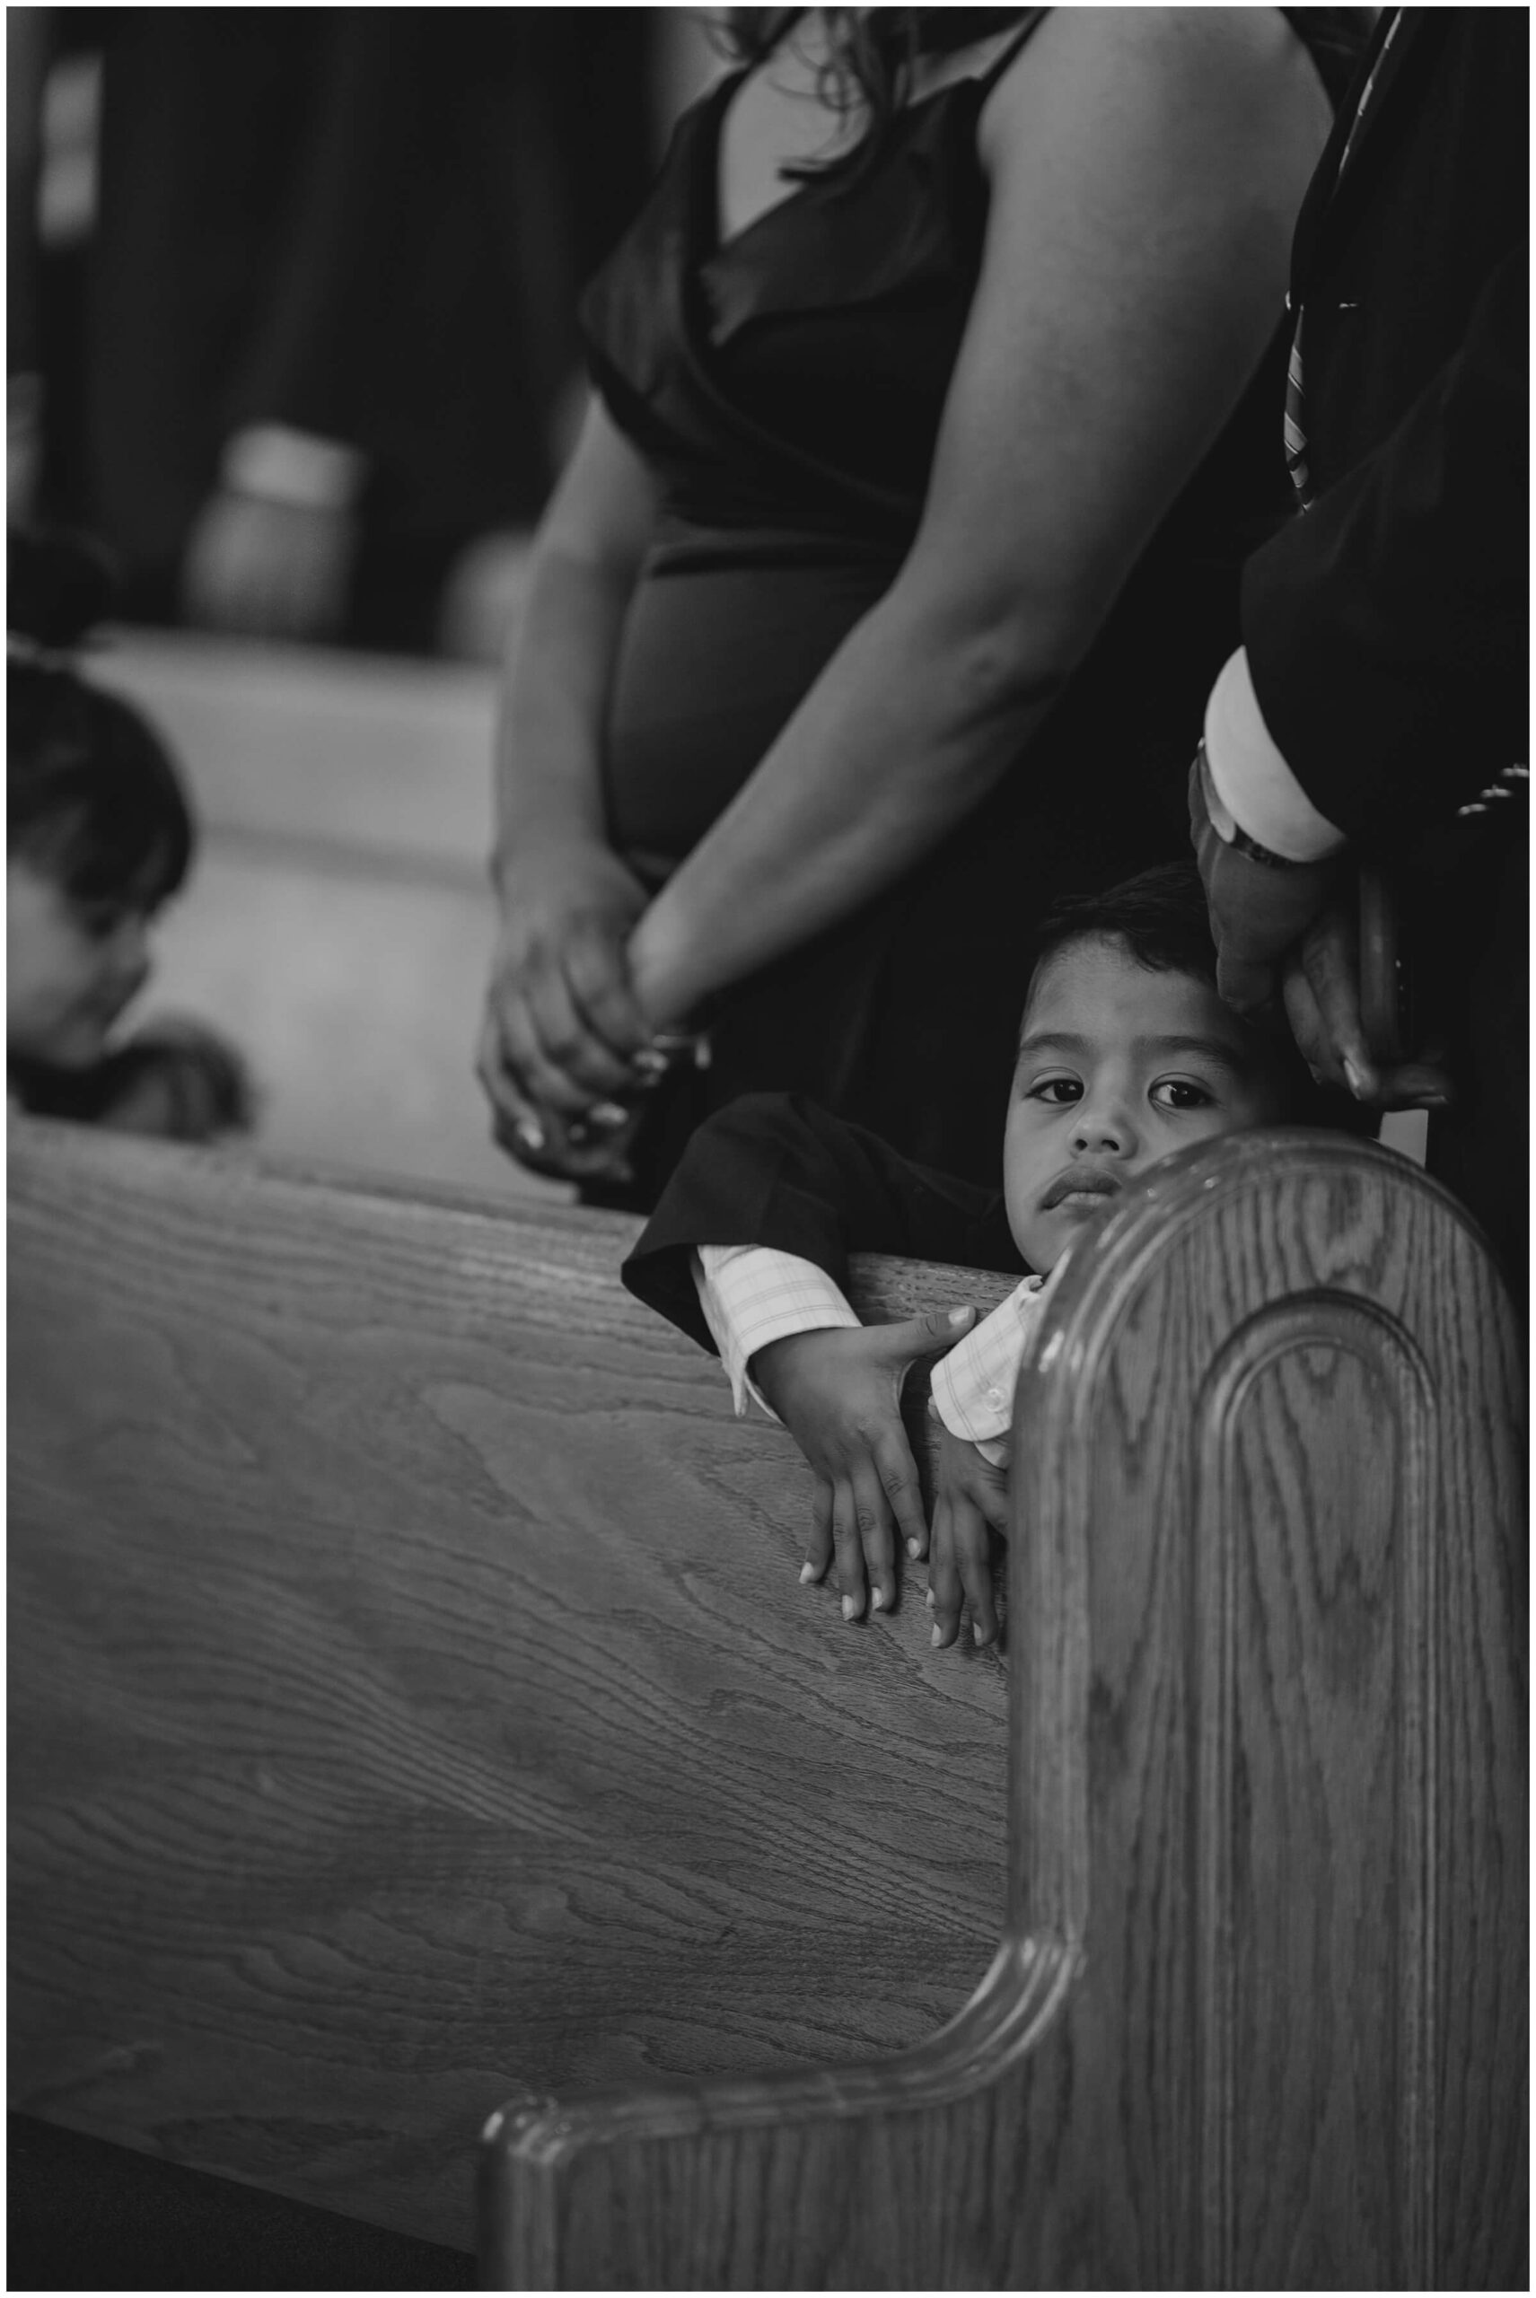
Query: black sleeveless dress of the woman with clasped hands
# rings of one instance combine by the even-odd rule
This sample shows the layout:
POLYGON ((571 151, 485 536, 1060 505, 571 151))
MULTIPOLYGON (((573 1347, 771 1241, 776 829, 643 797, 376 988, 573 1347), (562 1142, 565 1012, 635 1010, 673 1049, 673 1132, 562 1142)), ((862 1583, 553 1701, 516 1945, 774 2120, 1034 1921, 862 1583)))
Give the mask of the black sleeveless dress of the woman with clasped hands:
MULTIPOLYGON (((678 122, 584 296, 593 384, 662 492, 605 745, 609 834, 651 885, 752 774, 913 542, 982 262, 977 115, 1044 14, 1021 16, 984 76, 901 110, 871 161, 807 177, 722 246, 720 129, 745 78, 729 74, 678 122)), ((1354 14, 1292 18, 1334 101, 1354 14)), ((1276 329, 980 811, 885 896, 720 1000, 713 1066, 648 1115, 623 1202, 648 1204, 692 1126, 759 1089, 812 1094, 906 1156, 996 1186, 1039 912, 1189 853, 1184 772, 1239 643, 1237 568, 1288 508, 1283 356, 1276 329)))

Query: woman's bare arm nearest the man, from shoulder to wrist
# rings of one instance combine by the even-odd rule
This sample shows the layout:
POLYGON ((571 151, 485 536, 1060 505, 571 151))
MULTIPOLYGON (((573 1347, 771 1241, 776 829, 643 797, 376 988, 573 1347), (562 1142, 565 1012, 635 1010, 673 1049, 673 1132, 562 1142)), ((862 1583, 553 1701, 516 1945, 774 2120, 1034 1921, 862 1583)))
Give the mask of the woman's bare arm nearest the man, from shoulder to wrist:
POLYGON ((1274 9, 1046 18, 982 122, 917 540, 642 919, 655 1020, 892 885, 1016 758, 1269 342, 1327 129, 1274 9))

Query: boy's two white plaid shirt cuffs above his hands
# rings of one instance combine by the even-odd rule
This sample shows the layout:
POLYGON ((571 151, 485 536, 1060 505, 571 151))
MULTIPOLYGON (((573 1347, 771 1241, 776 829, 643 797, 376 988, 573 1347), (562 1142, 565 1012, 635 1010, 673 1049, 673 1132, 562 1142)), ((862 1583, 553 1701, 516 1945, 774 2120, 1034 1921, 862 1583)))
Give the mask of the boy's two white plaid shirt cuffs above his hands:
MULTIPOLYGON (((738 1413, 745 1413, 752 1397, 770 1420, 777 1418, 747 1377, 750 1358, 770 1340, 858 1326, 858 1317, 825 1268, 796 1252, 775 1252, 770 1246, 699 1246, 692 1271, 699 1308, 715 1335, 738 1413)), ((934 1365, 938 1418, 993 1466, 1007 1459, 1019 1358, 1039 1314, 1046 1282, 1046 1278, 1023 1278, 991 1317, 982 1317, 934 1365)))

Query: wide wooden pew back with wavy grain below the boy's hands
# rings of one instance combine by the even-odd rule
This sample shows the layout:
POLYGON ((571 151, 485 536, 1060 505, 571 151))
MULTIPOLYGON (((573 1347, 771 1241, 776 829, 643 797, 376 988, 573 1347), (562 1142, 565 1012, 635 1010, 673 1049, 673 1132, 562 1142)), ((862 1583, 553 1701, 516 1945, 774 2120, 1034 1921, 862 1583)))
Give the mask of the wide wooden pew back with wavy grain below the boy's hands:
POLYGON ((469 2245, 520 2084, 966 2002, 1003 1668, 798 1588, 809 1471, 632 1220, 18 1121, 9 1223, 14 2105, 469 2245))

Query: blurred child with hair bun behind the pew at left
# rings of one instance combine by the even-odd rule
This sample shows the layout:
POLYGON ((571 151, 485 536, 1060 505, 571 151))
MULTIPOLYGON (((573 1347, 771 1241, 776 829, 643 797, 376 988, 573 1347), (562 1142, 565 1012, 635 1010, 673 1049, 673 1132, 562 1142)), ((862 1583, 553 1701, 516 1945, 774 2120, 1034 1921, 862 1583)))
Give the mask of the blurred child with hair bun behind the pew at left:
POLYGON ((106 577, 74 542, 11 533, 7 561, 9 1101, 175 1140, 244 1131, 244 1064, 202 1023, 113 1034, 195 832, 159 735, 71 660, 106 577))

